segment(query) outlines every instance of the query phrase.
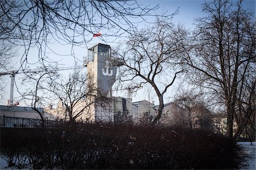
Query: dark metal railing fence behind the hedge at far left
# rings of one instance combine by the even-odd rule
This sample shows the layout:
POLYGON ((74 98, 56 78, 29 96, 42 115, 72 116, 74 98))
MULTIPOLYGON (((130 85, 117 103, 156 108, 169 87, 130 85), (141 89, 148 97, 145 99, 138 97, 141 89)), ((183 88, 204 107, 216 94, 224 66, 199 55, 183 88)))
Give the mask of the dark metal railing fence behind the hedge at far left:
MULTIPOLYGON (((51 128, 58 124, 58 121, 44 120, 46 128, 51 128)), ((42 127, 42 120, 35 118, 20 118, 20 117, 0 117, 0 126, 9 128, 39 128, 42 127)))

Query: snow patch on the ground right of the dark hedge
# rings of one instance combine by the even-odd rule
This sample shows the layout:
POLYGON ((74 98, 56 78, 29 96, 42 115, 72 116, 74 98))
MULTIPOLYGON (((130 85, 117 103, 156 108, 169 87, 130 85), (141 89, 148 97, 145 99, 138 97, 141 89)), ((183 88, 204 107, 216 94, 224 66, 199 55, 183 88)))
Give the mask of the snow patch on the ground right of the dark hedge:
POLYGON ((247 154, 247 160, 246 160, 246 167, 242 168, 243 170, 255 170, 255 162, 256 162, 256 142, 253 142, 253 145, 251 145, 251 142, 238 142, 239 145, 242 146, 243 151, 245 154, 247 154))

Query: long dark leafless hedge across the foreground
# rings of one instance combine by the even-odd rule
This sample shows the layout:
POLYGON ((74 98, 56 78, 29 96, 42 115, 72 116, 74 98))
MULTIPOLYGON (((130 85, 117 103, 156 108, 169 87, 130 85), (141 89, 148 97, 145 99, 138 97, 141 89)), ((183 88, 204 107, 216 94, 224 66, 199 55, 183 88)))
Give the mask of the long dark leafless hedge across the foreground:
POLYGON ((1 152, 13 159, 9 165, 24 167, 27 161, 34 169, 234 169, 239 151, 221 135, 192 129, 123 124, 1 128, 1 152))

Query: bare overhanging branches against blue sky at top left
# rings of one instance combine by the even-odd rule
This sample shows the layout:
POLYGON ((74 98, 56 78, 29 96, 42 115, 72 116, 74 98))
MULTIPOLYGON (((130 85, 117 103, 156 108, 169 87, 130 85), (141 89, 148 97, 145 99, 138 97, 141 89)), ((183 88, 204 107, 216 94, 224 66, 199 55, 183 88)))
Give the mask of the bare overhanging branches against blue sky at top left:
MULTIPOLYGON (((57 53, 49 44, 71 45, 84 48, 92 41, 93 33, 104 30, 103 37, 123 37, 135 33, 138 23, 147 22, 147 17, 171 18, 174 14, 157 15, 159 6, 142 6, 136 0, 3 0, 0 2, 0 19, 8 20, 4 34, 10 42, 24 48, 21 64, 26 69, 31 48, 38 49, 38 62, 46 65, 54 60, 47 52, 57 53), (89 36, 89 37, 88 37, 89 36)), ((34 57, 34 56, 33 56, 34 57)), ((75 57, 75 56, 74 56, 75 57)))

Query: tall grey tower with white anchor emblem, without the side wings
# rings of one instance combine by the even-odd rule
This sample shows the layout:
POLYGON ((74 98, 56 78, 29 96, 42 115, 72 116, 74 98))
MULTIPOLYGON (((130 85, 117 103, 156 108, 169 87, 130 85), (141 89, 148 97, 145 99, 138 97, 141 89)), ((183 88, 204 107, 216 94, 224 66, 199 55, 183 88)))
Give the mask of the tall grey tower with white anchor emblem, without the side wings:
MULTIPOLYGON (((111 48, 106 44, 97 44, 88 49, 88 56, 84 57, 84 66, 87 67, 88 84, 97 89, 97 96, 109 97, 108 105, 95 102, 89 106, 84 114, 89 121, 114 121, 114 99, 112 86, 117 74, 117 63, 111 56, 111 48)), ((91 100, 91 99, 89 99, 91 100)), ((88 103, 89 101, 84 101, 88 103)))

